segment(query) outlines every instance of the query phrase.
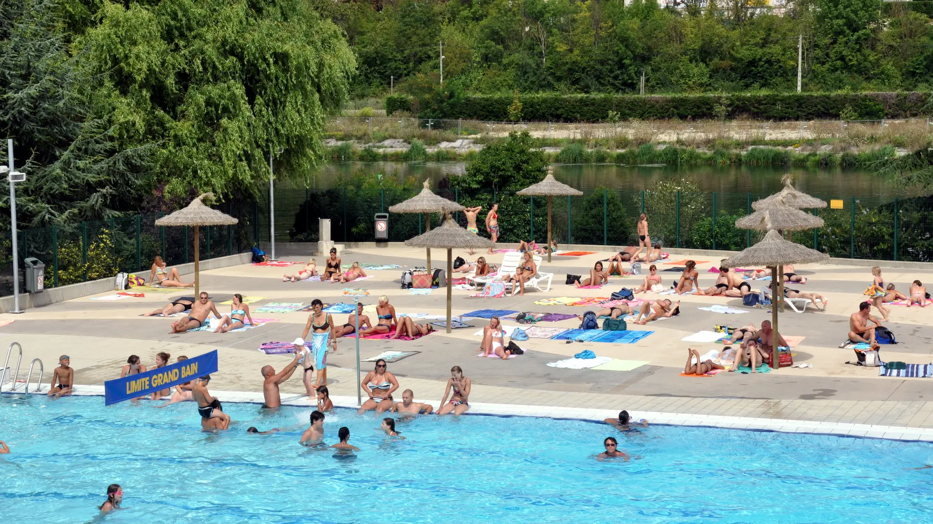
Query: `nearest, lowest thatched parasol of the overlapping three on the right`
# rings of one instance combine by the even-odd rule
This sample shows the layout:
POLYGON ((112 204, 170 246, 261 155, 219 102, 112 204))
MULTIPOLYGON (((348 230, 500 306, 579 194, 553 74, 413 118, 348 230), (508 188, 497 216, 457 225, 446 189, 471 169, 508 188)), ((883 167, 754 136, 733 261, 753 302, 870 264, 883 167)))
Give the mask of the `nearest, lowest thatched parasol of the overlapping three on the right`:
POLYGON ((784 277, 781 267, 786 264, 812 264, 826 262, 829 255, 804 247, 792 241, 781 238, 781 234, 771 230, 757 244, 746 248, 738 255, 732 255, 721 262, 725 268, 748 268, 768 266, 771 270, 772 305, 771 323, 774 328, 774 338, 771 347, 771 367, 777 369, 777 304, 784 305, 784 291, 774 283, 783 283, 784 277))

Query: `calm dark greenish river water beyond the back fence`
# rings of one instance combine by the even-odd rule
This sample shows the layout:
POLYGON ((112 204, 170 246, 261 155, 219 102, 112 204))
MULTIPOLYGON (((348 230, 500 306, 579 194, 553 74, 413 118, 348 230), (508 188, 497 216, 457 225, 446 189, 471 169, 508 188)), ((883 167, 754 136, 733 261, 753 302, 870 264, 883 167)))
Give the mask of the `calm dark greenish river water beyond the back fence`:
MULTIPOLYGON (((386 174, 419 181, 430 178, 437 182, 445 175, 466 172, 465 162, 334 162, 314 175, 313 188, 326 189, 337 176, 350 176, 356 170, 384 171, 386 174)), ((842 168, 807 169, 758 166, 659 166, 627 167, 616 164, 556 164, 554 177, 569 186, 586 190, 598 186, 610 189, 650 189, 663 178, 687 177, 707 191, 720 193, 752 193, 764 195, 781 189, 781 177, 789 172, 794 185, 811 195, 826 197, 880 198, 917 196, 915 189, 896 189, 888 179, 869 171, 842 168)))

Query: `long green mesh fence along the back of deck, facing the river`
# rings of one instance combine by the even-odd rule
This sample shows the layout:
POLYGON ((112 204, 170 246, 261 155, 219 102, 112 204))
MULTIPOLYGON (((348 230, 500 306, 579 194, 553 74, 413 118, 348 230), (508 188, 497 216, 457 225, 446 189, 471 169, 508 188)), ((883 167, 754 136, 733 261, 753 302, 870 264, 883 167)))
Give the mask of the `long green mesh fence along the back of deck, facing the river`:
MULTIPOLYGON (((469 206, 481 205, 478 227, 488 235, 484 217, 499 203, 501 241, 543 242, 547 237, 548 200, 519 197, 495 189, 462 191, 439 189, 440 196, 469 206)), ((341 187, 324 191, 275 189, 275 239, 317 241, 318 218, 331 221, 333 241, 374 241, 374 215, 411 198, 416 189, 341 187)), ((735 227, 735 220, 752 213, 751 204, 767 197, 757 193, 708 193, 699 190, 641 191, 600 189, 582 197, 554 197, 550 214, 552 235, 559 243, 637 244, 636 222, 648 214, 652 241, 664 248, 742 250, 762 234, 735 227)), ((879 260, 933 260, 933 198, 833 197, 815 195, 830 207, 807 210, 826 222, 823 228, 795 231, 793 240, 830 256, 879 260)), ((455 218, 466 227, 462 213, 455 218)), ((431 226, 440 215, 431 215, 431 226)), ((258 206, 258 236, 269 240, 268 204, 258 206)), ((406 241, 425 232, 424 214, 390 214, 389 241, 406 241)))

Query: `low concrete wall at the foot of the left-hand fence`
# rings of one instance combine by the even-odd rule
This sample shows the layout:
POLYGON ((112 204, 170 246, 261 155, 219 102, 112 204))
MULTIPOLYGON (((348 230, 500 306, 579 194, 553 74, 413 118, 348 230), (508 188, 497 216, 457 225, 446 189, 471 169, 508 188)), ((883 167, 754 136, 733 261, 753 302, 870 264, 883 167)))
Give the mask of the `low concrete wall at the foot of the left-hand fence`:
MULTIPOLYGON (((203 271, 206 269, 227 268, 229 266, 248 264, 252 257, 252 253, 241 253, 238 255, 218 256, 216 258, 202 260, 201 270, 203 271)), ((189 264, 177 264, 173 267, 178 268, 178 273, 181 275, 194 274, 193 262, 189 264)), ((49 269, 49 267, 47 266, 46 269, 49 269)), ((148 273, 149 271, 146 270, 146 274, 143 274, 142 272, 137 274, 144 279, 148 279, 148 273)), ((48 278, 49 274, 47 273, 46 276, 48 278)), ((91 296, 113 290, 113 277, 90 282, 60 285, 59 287, 47 287, 42 291, 42 293, 21 293, 20 309, 29 310, 32 308, 41 308, 42 306, 48 306, 49 304, 54 304, 56 302, 63 302, 65 300, 71 300, 80 296, 91 296)), ((0 296, 0 312, 8 313, 11 310, 13 310, 13 296, 0 296)))

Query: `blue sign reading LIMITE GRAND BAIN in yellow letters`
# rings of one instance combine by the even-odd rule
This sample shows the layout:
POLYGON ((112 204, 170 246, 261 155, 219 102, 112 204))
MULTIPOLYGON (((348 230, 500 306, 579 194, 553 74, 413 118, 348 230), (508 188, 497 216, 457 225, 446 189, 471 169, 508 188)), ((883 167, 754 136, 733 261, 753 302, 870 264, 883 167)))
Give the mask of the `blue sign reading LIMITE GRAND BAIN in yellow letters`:
POLYGON ((178 364, 158 367, 145 373, 127 375, 122 379, 107 380, 104 382, 104 406, 167 390, 177 384, 183 384, 189 380, 216 373, 216 371, 217 351, 214 350, 183 360, 178 364))

